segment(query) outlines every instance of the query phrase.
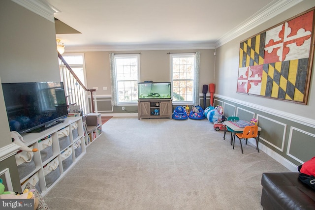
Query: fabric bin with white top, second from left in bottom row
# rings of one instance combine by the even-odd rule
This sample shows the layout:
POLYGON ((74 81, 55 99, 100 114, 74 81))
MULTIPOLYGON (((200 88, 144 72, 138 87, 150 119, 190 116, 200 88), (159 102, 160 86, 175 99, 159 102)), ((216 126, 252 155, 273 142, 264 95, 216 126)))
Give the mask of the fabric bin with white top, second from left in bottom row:
POLYGON ((46 187, 48 188, 60 177, 58 157, 48 163, 43 168, 43 170, 45 175, 46 187))

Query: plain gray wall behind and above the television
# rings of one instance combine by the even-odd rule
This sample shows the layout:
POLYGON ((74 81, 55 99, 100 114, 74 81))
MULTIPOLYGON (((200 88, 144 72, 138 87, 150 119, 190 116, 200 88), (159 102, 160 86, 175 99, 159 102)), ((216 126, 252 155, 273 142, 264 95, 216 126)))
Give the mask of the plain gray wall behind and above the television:
MULTIPOLYGON (((60 81, 55 24, 11 0, 0 1, 0 80, 60 81)), ((2 87, 0 148, 11 143, 2 87)))

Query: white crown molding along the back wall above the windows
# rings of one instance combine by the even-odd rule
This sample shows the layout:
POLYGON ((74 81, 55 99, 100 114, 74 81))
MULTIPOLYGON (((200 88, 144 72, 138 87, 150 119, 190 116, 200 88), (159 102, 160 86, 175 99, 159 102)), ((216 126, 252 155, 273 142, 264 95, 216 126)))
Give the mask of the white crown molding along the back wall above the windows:
POLYGON ((214 44, 132 44, 132 45, 98 45, 67 46, 65 53, 95 51, 139 51, 139 50, 203 50, 215 49, 214 44))

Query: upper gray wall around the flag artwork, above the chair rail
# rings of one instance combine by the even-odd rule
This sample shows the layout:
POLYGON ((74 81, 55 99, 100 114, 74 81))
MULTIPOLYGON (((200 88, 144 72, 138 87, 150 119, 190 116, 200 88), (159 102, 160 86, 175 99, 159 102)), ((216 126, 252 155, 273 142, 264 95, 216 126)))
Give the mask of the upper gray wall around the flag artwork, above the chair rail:
MULTIPOLYGON (((315 77, 312 76, 311 87, 309 92, 309 103, 307 106, 291 103, 286 101, 275 100, 266 97, 252 96, 236 93, 238 65, 239 65, 239 46, 240 42, 263 31, 276 24, 285 21, 305 10, 315 6, 314 0, 304 0, 298 5, 290 8, 281 15, 269 20, 268 22, 257 26, 255 29, 235 38, 234 40, 224 44, 216 50, 216 70, 215 84, 216 93, 226 97, 236 98, 242 101, 259 104, 264 107, 281 110, 287 113, 297 114, 299 116, 315 119, 315 77)), ((313 74, 314 74, 313 63, 313 74)))

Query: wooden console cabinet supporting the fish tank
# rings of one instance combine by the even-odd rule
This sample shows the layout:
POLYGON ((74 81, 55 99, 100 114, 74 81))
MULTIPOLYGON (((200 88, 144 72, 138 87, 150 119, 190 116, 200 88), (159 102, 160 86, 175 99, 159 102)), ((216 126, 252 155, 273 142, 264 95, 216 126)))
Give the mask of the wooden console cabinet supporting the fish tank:
POLYGON ((138 100, 138 119, 169 118, 172 119, 172 99, 138 100))

